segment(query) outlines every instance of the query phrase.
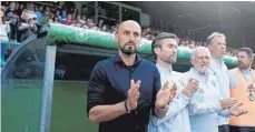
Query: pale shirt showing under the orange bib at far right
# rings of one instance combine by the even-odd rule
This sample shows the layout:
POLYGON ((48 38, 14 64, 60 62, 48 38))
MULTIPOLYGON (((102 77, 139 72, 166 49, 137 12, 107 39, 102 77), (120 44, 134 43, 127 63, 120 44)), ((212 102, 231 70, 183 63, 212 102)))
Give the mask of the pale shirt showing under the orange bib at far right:
MULTIPOLYGON (((243 73, 245 80, 253 80, 252 69, 249 69, 249 70, 241 70, 241 72, 243 73)), ((231 89, 235 88, 235 85, 237 83, 237 79, 236 79, 235 73, 228 71, 228 77, 231 79, 231 89)))

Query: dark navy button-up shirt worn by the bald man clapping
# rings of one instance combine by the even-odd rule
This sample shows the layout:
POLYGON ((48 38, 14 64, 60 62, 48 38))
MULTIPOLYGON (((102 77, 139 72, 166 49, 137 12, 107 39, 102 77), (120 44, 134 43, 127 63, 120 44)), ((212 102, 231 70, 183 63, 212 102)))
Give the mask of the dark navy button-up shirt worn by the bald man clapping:
POLYGON ((136 55, 133 67, 127 67, 119 54, 99 61, 90 75, 87 91, 87 113, 96 105, 116 104, 127 99, 130 80, 141 81, 138 106, 111 121, 99 123, 99 132, 146 132, 149 115, 155 106, 156 93, 161 88, 160 75, 153 62, 136 55))

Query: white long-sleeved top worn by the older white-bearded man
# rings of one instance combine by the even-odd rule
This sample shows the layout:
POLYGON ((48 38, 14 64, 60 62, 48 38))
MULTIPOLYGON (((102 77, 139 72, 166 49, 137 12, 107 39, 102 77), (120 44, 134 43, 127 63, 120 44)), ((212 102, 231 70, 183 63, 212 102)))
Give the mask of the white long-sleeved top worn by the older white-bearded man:
POLYGON ((188 104, 192 132, 218 132, 217 116, 223 111, 217 78, 210 72, 202 75, 193 68, 183 77, 185 81, 190 78, 199 81, 198 90, 188 104))

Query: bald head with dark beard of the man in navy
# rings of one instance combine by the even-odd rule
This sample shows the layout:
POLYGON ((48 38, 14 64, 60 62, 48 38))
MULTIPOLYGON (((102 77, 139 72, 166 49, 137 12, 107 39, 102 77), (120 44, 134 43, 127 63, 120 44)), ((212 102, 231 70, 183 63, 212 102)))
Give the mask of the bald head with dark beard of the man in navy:
POLYGON ((119 50, 128 55, 135 54, 140 44, 140 26, 136 21, 121 22, 115 34, 115 39, 119 43, 119 50))

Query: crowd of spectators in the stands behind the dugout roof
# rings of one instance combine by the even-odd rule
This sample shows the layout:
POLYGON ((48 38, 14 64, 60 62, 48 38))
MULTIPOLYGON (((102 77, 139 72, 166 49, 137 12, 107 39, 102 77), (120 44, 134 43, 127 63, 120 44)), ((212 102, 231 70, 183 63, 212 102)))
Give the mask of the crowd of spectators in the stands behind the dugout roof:
MULTIPOLYGON (((39 32, 47 22, 61 23, 71 27, 115 33, 116 26, 108 26, 102 19, 95 22, 92 18, 78 13, 78 9, 43 6, 33 2, 2 2, 0 12, 1 41, 22 42, 33 33, 39 32)), ((143 28, 143 38, 153 40, 163 31, 153 27, 143 28)), ((194 49, 204 45, 203 41, 194 41, 188 37, 179 39, 179 47, 194 49)), ((228 48, 227 55, 236 55, 237 50, 228 48)))

